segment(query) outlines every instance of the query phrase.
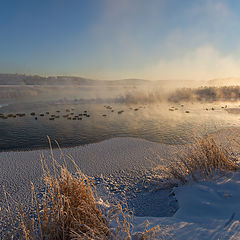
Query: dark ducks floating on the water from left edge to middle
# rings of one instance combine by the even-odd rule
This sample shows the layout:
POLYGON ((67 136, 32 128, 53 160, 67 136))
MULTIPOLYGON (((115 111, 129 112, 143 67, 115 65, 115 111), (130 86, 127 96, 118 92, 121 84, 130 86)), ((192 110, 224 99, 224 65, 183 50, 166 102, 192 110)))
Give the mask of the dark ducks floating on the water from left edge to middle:
MULTIPOLYGON (((114 112, 115 110, 113 109, 112 106, 110 105, 105 105, 104 106, 107 110, 110 110, 110 112, 114 112)), ((130 110, 138 111, 140 108, 143 108, 140 106, 139 108, 129 108, 130 110)), ((8 119, 8 118, 17 118, 17 117, 25 117, 27 115, 33 116, 35 120, 38 120, 39 117, 44 117, 48 116, 48 119, 50 121, 53 121, 57 118, 60 118, 61 116, 63 118, 66 118, 67 120, 83 120, 83 118, 89 118, 90 114, 88 113, 87 110, 82 111, 81 113, 76 114, 74 112, 75 108, 67 108, 65 109, 65 113, 61 115, 61 111, 57 110, 56 113, 50 113, 50 112, 45 112, 45 113, 36 113, 36 112, 31 112, 29 114, 27 113, 0 113, 0 119, 8 119)), ((64 112, 64 111, 63 111, 64 112)), ((117 111, 118 114, 122 114, 124 110, 117 111)), ((106 117, 107 114, 102 114, 103 117, 106 117)))

